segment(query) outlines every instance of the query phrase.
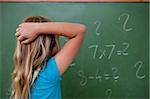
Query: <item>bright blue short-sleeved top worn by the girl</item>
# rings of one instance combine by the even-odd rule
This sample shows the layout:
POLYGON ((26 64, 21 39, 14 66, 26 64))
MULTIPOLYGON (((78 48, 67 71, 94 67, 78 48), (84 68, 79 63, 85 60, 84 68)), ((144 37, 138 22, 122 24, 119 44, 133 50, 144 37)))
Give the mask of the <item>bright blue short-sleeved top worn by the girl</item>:
POLYGON ((61 99, 62 80, 54 57, 41 69, 30 88, 31 99, 61 99))

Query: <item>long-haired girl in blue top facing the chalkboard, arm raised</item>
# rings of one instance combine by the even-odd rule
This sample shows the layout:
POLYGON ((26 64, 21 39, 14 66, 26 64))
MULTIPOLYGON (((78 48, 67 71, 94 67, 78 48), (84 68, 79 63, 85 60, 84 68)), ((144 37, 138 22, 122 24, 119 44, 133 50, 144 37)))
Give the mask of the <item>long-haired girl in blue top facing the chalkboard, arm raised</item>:
POLYGON ((60 80, 78 53, 86 26, 32 16, 16 29, 11 99, 61 99, 60 80), (59 36, 69 40, 59 49, 59 36))

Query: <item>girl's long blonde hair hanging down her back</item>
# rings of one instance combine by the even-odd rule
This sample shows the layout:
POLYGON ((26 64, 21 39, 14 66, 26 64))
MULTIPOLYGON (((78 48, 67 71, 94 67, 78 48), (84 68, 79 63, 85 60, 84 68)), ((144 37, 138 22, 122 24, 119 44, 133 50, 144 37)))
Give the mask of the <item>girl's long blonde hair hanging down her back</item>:
MULTIPOLYGON (((24 22, 52 22, 47 17, 30 16, 24 22)), ((57 35, 39 35, 29 44, 21 45, 17 41, 14 53, 15 69, 12 73, 11 99, 28 99, 30 84, 36 69, 47 64, 50 57, 59 51, 57 35)))

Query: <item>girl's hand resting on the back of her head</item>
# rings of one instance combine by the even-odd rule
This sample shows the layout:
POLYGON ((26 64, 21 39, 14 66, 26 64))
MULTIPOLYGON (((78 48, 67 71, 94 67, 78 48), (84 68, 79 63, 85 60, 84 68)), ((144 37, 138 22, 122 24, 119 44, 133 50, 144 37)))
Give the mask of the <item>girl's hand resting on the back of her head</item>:
POLYGON ((39 23, 25 22, 19 25, 15 35, 21 44, 30 43, 39 35, 38 24, 39 23))

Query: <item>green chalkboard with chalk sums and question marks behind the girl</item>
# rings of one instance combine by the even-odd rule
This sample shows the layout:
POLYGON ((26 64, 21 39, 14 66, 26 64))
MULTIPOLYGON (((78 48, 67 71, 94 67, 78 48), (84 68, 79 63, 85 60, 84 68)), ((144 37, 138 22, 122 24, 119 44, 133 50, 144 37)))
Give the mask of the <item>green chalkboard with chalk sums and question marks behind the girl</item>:
POLYGON ((0 8, 1 99, 9 94, 15 30, 33 15, 87 26, 83 46, 63 75, 63 99, 149 99, 149 3, 8 2, 0 8))

